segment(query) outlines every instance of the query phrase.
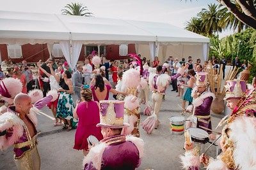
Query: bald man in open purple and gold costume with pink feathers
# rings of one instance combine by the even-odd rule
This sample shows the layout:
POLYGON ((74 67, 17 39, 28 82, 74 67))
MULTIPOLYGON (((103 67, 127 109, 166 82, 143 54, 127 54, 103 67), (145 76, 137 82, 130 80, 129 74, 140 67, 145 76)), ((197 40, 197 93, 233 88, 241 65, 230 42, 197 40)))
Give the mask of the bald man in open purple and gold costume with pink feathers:
MULTIPOLYGON (((37 95, 37 92, 33 94, 33 96, 37 95)), ((35 99, 31 99, 28 94, 20 93, 13 100, 14 106, 10 106, 8 111, 0 116, 0 149, 14 147, 14 161, 17 169, 40 169, 36 113, 40 114, 40 109, 57 97, 56 91, 49 91, 47 97, 32 105, 35 99)))

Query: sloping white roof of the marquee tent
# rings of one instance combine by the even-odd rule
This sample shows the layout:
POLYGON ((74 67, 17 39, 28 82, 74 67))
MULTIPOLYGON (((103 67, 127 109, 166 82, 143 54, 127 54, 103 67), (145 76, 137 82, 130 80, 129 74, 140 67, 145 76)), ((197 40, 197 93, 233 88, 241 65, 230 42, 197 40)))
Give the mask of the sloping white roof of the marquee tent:
POLYGON ((0 11, 0 43, 209 43, 209 38, 170 24, 19 11, 0 11))

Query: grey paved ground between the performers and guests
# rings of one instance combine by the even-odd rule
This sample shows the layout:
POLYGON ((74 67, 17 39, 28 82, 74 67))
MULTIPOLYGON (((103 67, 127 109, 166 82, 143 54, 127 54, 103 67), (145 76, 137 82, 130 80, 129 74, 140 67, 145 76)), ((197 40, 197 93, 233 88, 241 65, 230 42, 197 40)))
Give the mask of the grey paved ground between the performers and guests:
MULTIPOLYGON (((179 155, 184 153, 184 136, 175 136, 170 133, 168 118, 180 115, 180 98, 177 93, 167 90, 166 100, 162 104, 159 120, 159 128, 152 134, 146 134, 141 129, 141 138, 145 141, 145 155, 138 169, 182 169, 179 155)), ((42 110, 51 115, 48 108, 42 110)), ((51 115, 52 116, 52 115, 51 115)), ((141 115, 141 119, 145 120, 141 115)), ((212 115, 213 127, 220 121, 220 115, 212 115)), ((76 130, 67 132, 61 127, 53 127, 53 121, 43 115, 38 115, 39 127, 42 131, 39 136, 39 152, 41 157, 41 169, 82 169, 83 153, 72 149, 76 130)), ((220 131, 220 130, 219 130, 220 131)), ((208 146, 207 144, 206 146, 208 146)), ((212 147, 209 154, 214 156, 215 148, 212 147)), ((15 169, 12 148, 0 152, 0 169, 15 169)))

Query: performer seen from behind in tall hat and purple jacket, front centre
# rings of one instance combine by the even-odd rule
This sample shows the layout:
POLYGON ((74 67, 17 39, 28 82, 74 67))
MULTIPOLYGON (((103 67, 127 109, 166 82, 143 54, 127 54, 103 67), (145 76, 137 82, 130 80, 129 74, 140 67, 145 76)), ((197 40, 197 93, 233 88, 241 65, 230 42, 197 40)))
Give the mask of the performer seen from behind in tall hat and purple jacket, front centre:
POLYGON ((121 134, 124 127, 124 101, 100 101, 100 124, 103 138, 90 146, 84 157, 84 169, 136 169, 143 156, 143 140, 121 134), (92 147, 92 148, 91 148, 92 147))

